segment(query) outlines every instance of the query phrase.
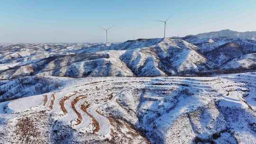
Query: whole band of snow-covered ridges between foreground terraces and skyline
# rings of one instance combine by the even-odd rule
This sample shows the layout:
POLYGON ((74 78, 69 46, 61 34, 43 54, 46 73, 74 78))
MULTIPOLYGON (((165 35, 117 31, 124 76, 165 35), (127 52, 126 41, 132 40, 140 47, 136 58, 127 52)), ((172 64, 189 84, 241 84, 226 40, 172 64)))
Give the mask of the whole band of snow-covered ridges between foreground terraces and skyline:
MULTIPOLYGON (((186 36, 181 39, 137 39, 104 44, 1 45, 0 79, 24 76, 175 76, 240 70, 225 66, 235 58, 256 53, 256 41, 186 36), (225 67, 225 69, 224 69, 225 67)), ((246 59, 244 61, 247 61, 246 59)), ((254 69, 251 65, 243 70, 254 69)))

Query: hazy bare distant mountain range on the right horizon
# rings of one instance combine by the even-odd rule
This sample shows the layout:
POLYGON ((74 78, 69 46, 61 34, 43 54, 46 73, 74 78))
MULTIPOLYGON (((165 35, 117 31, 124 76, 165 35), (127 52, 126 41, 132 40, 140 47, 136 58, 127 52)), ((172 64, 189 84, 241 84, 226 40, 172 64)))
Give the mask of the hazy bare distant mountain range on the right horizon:
POLYGON ((246 38, 256 40, 256 31, 237 32, 229 29, 224 29, 216 32, 208 32, 196 35, 201 38, 212 37, 232 37, 232 38, 246 38))

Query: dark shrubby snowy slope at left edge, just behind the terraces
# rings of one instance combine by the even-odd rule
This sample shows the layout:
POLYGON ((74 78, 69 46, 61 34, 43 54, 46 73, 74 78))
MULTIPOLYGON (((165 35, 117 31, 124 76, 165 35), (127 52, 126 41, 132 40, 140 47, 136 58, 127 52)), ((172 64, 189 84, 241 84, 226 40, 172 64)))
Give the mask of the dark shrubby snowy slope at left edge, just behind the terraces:
POLYGON ((24 77, 13 80, 0 81, 0 102, 38 95, 50 91, 58 91, 72 84, 79 84, 82 80, 62 77, 24 77))

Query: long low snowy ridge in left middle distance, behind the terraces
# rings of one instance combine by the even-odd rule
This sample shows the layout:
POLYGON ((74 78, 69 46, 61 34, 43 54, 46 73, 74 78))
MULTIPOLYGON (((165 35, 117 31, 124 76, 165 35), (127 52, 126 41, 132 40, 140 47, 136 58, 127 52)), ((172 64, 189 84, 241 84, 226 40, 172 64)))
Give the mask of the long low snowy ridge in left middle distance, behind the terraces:
POLYGON ((31 75, 86 77, 132 76, 119 58, 110 53, 64 54, 21 63, 0 64, 1 79, 13 79, 31 75), (123 68, 123 69, 121 69, 123 68))

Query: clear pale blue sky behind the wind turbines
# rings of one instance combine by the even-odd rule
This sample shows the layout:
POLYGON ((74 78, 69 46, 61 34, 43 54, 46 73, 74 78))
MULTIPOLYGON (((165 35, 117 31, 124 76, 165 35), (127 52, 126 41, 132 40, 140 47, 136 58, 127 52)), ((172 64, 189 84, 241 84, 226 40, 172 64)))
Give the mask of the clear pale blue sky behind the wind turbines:
POLYGON ((110 42, 256 31, 256 0, 0 0, 0 42, 110 42))

